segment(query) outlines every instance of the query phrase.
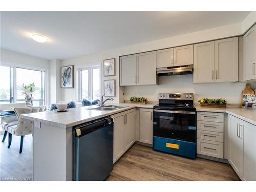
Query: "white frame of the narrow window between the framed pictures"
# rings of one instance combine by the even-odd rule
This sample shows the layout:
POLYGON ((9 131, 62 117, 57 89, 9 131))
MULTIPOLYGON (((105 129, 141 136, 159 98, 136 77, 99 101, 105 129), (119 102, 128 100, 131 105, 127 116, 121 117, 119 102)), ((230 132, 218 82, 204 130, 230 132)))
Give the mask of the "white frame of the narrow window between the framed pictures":
MULTIPOLYGON (((87 67, 83 67, 83 68, 79 68, 78 70, 77 70, 77 72, 78 72, 78 86, 77 86, 77 88, 78 88, 78 97, 77 97, 77 100, 79 101, 79 102, 81 102, 82 101, 82 77, 81 77, 81 72, 83 71, 83 70, 88 70, 88 99, 89 100, 93 100, 93 87, 92 87, 92 83, 93 83, 93 69, 99 69, 99 71, 100 71, 100 65, 93 65, 93 66, 87 66, 87 67)), ((100 73, 99 73, 99 76, 100 76, 100 78, 101 78, 101 71, 100 71, 100 73)), ((100 81, 101 82, 101 81, 100 81)), ((99 85, 99 89, 100 89, 100 92, 101 92, 101 83, 100 83, 100 85, 99 85)))

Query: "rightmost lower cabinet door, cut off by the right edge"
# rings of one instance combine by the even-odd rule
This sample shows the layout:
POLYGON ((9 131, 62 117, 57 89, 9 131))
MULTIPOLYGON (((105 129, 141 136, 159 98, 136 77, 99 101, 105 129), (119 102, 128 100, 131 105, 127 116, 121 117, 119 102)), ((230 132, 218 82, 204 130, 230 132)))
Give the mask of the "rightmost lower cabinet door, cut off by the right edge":
POLYGON ((256 181, 256 126, 244 125, 244 180, 256 181))

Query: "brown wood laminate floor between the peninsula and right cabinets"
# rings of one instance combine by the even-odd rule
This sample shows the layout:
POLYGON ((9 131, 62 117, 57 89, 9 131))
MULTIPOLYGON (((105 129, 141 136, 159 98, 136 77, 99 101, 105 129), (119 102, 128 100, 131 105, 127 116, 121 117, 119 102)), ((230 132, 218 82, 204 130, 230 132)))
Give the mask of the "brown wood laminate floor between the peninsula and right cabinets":
POLYGON ((134 144, 114 165, 108 181, 239 181, 231 166, 154 151, 134 144))

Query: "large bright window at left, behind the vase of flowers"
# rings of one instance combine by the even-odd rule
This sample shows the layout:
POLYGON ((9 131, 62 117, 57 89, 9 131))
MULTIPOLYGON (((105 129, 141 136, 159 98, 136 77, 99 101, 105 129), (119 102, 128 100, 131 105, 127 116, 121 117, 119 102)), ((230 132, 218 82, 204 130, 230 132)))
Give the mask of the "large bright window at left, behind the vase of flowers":
POLYGON ((28 85, 33 82, 36 89, 32 94, 33 105, 39 106, 46 103, 45 71, 0 66, 0 82, 0 103, 25 102, 22 84, 28 85))

